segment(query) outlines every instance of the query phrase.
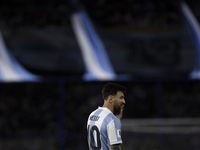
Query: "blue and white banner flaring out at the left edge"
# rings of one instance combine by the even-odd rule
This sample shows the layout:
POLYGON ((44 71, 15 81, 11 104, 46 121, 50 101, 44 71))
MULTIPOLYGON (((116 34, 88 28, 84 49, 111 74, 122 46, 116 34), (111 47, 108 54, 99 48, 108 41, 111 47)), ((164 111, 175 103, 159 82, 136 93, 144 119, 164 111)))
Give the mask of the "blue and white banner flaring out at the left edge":
POLYGON ((0 32, 0 82, 39 81, 40 77, 25 70, 8 52, 0 32))

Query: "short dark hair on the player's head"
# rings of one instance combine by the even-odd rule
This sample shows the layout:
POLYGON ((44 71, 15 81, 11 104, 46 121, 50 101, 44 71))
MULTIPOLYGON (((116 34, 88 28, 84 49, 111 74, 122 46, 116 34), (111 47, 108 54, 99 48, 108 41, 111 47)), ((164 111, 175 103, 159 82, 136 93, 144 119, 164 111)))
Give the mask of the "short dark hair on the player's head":
POLYGON ((115 83, 107 83, 102 90, 103 99, 106 100, 109 95, 117 95, 118 91, 125 93, 126 87, 115 83))

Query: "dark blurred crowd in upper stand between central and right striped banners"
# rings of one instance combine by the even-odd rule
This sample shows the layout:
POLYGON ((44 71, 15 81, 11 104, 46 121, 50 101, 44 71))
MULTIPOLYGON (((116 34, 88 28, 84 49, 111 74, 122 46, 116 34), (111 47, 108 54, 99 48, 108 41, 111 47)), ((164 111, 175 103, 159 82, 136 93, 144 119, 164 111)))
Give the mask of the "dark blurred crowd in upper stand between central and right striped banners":
POLYGON ((87 8, 92 18, 105 27, 181 27, 179 7, 179 1, 99 0, 96 7, 90 4, 87 8))

